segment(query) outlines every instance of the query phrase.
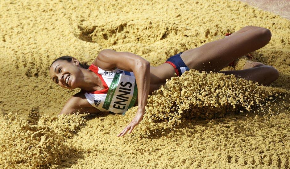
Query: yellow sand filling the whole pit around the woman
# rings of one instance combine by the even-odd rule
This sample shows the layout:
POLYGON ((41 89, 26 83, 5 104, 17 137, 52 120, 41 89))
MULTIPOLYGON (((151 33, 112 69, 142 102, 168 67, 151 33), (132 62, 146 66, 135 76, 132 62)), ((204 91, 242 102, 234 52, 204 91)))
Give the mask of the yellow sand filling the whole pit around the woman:
MULTIPOLYGON (((289 20, 229 0, 0 1, 0 18, 1 168, 289 167, 289 20), (232 76, 188 72, 172 78, 168 86, 151 95, 143 121, 131 135, 122 138, 116 135, 131 122, 136 107, 126 116, 99 113, 85 116, 87 120, 81 120, 81 116, 55 116, 79 91, 63 89, 50 79, 48 68, 59 56, 70 55, 90 64, 102 49, 114 49, 138 54, 156 66, 176 53, 224 38, 226 33, 247 25, 271 30, 271 41, 251 53, 254 61, 272 65, 280 72, 270 88, 232 76), (205 79, 192 77, 185 83, 189 75, 205 79), (208 80, 211 78, 213 83, 208 80), (210 88, 215 89, 213 93, 221 88, 217 86, 218 78, 230 79, 232 87, 244 83, 236 88, 242 93, 250 85, 251 93, 233 95, 244 99, 242 102, 234 102, 237 97, 221 100, 205 95, 210 88), (208 85, 200 86, 205 90, 204 98, 200 97, 203 101, 193 100, 202 92, 193 91, 192 81, 208 85), (179 87, 176 96, 173 92, 158 96, 174 86, 179 87), (182 90, 181 86, 191 90, 182 90), (190 98, 192 94, 195 97, 190 98), (256 104, 258 95, 262 95, 260 104, 256 104), (166 107, 158 103, 158 98, 178 101, 177 96, 182 100, 179 104, 166 107), (213 105, 225 104, 219 109, 211 106, 213 110, 209 105, 196 107, 211 100, 216 101, 213 105), (160 111, 150 105, 159 105, 160 111), (177 107, 184 110, 180 116, 178 110, 164 113, 167 108, 177 107), (9 112, 12 115, 4 117, 9 112), (198 119, 198 115, 205 119, 198 119)), ((240 70, 245 61, 246 57, 242 57, 235 61, 235 68, 223 70, 240 70)), ((222 99, 230 98, 226 91, 221 90, 222 99)))

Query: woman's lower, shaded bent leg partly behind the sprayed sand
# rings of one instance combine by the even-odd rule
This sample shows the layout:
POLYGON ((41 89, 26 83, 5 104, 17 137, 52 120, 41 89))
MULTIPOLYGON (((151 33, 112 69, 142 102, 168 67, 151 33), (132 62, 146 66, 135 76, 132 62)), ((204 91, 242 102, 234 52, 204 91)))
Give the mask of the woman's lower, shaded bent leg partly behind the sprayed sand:
POLYGON ((272 66, 268 65, 256 65, 253 68, 243 70, 226 70, 219 71, 226 75, 234 74, 236 77, 240 76, 242 79, 258 82, 259 85, 270 85, 273 81, 279 77, 279 72, 272 66))

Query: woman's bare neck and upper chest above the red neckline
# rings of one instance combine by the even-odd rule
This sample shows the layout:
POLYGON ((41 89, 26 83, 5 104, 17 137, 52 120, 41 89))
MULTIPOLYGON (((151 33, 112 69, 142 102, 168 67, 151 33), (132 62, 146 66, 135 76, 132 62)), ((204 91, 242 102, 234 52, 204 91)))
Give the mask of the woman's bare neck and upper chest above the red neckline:
POLYGON ((81 83, 81 86, 79 88, 85 91, 96 91, 103 89, 103 83, 100 77, 96 75, 96 73, 92 72, 89 69, 83 69, 83 74, 83 82, 81 83))

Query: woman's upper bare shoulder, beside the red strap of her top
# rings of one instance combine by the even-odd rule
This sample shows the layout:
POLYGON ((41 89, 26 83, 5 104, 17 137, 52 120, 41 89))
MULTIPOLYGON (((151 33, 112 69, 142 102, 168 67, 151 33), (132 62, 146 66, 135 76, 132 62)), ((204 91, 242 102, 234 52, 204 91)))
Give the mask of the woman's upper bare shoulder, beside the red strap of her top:
POLYGON ((114 70, 116 66, 114 64, 114 57, 118 56, 118 52, 112 49, 104 49, 102 50, 97 58, 93 61, 93 65, 103 69, 103 70, 114 70))

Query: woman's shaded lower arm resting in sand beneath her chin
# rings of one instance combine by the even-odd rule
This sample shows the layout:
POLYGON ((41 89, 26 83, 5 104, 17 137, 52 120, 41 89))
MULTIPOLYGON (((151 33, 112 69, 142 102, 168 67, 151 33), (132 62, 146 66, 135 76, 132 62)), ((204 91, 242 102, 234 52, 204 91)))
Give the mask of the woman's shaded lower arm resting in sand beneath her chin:
POLYGON ((68 99, 58 116, 62 114, 73 114, 76 112, 95 114, 100 112, 100 110, 89 104, 83 92, 78 92, 68 99))

